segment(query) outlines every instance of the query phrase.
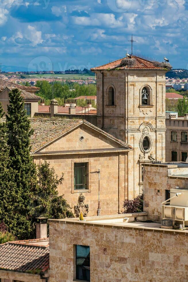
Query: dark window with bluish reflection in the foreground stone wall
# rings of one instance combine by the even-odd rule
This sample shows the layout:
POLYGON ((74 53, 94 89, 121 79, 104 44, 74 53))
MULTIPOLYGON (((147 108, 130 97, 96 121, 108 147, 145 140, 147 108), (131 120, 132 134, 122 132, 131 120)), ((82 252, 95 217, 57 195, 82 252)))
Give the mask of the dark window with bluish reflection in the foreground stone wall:
POLYGON ((76 245, 76 279, 90 281, 90 247, 76 245))

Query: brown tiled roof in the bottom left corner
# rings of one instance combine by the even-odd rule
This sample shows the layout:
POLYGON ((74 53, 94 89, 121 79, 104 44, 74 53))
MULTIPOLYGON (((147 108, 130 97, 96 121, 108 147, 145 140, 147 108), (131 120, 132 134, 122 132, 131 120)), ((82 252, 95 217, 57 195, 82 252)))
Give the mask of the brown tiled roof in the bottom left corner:
POLYGON ((13 241, 1 244, 0 268, 23 272, 32 271, 33 274, 35 270, 37 273, 39 270, 41 273, 48 270, 49 245, 35 245, 35 241, 13 241))

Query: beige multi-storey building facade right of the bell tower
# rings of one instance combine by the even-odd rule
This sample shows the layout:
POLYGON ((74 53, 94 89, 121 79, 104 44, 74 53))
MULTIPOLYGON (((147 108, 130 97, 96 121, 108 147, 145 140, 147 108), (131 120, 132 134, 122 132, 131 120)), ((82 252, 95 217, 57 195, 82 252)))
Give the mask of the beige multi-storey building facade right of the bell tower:
MULTIPOLYGON (((173 116, 173 115, 172 115, 173 116)), ((182 141, 182 133, 188 135, 188 117, 170 117, 166 119, 166 161, 172 161, 172 152, 177 152, 177 161, 185 161, 188 157, 188 143, 182 141), (172 132, 176 132, 176 141, 173 141, 172 132)), ((176 157, 176 156, 174 156, 176 157)))

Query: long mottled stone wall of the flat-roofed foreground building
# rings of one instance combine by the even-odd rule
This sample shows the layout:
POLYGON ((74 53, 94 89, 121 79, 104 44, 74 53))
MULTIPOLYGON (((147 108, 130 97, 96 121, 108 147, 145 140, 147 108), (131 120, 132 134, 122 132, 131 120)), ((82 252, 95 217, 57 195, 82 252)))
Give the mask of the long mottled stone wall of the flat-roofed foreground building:
POLYGON ((188 231, 76 220, 49 227, 49 282, 75 279, 75 245, 90 247, 92 282, 188 280, 188 231))

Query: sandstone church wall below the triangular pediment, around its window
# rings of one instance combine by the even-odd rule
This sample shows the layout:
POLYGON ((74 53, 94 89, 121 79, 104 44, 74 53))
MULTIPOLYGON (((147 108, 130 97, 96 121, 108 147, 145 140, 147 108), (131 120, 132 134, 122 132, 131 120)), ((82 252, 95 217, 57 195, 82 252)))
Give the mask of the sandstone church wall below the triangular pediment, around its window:
POLYGON ((64 181, 58 186, 59 195, 64 195, 73 208, 77 205, 80 193, 89 204, 88 216, 96 216, 98 208, 98 174, 89 172, 100 169, 100 203, 101 215, 116 214, 123 211, 123 201, 127 198, 128 153, 75 153, 72 155, 40 155, 34 156, 34 162, 41 164, 46 159, 55 174, 60 178, 64 173, 64 181), (88 163, 88 190, 74 190, 74 163, 88 163))

